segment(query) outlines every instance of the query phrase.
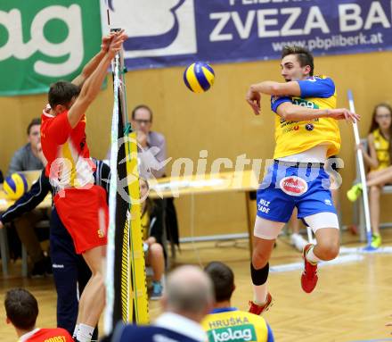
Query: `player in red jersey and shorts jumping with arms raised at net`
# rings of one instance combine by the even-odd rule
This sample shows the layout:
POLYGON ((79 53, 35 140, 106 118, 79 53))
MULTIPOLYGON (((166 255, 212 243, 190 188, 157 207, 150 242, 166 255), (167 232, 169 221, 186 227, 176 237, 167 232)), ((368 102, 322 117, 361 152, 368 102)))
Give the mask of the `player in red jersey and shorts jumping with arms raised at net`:
POLYGON ((80 342, 91 340, 105 303, 102 255, 108 226, 106 194, 101 187, 94 186, 92 177, 94 164, 86 144, 85 113, 125 39, 124 30, 103 38, 102 50, 86 65, 84 76, 82 72, 82 77, 73 83, 59 81, 51 86, 50 109, 42 115, 41 143, 48 161, 45 172, 56 188, 54 205, 77 253, 83 255, 92 271, 79 301, 74 337, 80 342))

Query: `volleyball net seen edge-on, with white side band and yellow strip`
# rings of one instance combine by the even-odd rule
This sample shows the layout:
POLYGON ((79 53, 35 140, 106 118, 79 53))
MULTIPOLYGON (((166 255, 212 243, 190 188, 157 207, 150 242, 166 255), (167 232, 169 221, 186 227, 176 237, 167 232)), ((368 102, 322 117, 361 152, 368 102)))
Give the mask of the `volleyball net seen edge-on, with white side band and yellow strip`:
MULTIPOLYGON (((108 25, 110 11, 107 4, 108 25)), ((120 29, 110 28, 110 32, 120 29)), ((148 323, 148 298, 141 228, 137 143, 127 115, 124 52, 111 63, 113 115, 110 146, 109 229, 106 259, 105 334, 118 321, 148 323)))

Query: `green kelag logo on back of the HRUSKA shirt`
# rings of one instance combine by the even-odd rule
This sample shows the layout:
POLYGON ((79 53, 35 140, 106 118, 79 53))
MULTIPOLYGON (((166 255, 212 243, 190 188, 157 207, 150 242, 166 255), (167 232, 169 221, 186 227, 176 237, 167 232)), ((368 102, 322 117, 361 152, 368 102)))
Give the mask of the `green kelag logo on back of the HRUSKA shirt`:
POLYGON ((256 341, 255 328, 250 325, 240 325, 230 328, 214 329, 208 331, 208 340, 215 342, 240 342, 240 341, 256 341))

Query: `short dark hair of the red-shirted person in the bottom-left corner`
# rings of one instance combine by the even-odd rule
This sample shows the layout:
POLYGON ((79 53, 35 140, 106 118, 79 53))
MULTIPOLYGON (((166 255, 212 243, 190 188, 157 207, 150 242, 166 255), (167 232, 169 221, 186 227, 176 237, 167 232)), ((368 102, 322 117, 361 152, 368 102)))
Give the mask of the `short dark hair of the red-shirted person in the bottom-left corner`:
POLYGON ((24 288, 12 288, 4 299, 5 313, 15 328, 29 330, 36 325, 37 299, 24 288))

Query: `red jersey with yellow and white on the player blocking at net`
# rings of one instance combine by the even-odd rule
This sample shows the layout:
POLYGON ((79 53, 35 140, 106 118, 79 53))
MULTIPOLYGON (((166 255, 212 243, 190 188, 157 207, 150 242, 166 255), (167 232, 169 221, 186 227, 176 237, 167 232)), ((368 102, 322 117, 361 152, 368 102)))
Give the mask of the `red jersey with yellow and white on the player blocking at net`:
POLYGON ((95 165, 86 144, 86 117, 71 128, 68 111, 41 116, 41 144, 47 165, 45 174, 59 189, 83 188, 94 183, 95 165))

